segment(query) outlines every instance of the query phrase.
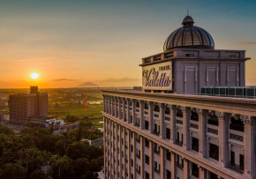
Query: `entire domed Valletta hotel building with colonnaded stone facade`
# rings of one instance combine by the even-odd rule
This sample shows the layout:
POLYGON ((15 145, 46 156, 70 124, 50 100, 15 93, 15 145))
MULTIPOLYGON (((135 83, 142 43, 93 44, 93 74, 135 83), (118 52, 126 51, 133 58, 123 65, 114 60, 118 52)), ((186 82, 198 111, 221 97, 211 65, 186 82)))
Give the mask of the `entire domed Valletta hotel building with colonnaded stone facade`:
POLYGON ((186 16, 162 53, 142 58, 140 91, 103 90, 104 178, 256 178, 250 58, 215 49, 193 24, 186 16))

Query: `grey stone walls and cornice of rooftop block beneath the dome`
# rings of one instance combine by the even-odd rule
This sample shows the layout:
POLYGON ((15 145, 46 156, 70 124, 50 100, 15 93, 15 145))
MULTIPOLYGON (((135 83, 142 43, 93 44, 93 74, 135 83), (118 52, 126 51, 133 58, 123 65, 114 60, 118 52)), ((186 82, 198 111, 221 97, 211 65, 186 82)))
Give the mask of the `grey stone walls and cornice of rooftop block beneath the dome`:
POLYGON ((245 86, 245 50, 175 48, 142 59, 140 66, 172 62, 173 91, 200 93, 203 86, 245 86))

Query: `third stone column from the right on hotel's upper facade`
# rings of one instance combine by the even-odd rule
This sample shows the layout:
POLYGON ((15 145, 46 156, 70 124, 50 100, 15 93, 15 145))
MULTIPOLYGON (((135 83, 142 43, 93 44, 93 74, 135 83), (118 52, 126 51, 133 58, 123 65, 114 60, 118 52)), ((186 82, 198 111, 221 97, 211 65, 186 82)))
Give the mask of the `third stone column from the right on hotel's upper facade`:
POLYGON ((199 142, 200 142, 200 156, 207 157, 207 110, 196 109, 199 115, 199 142))

